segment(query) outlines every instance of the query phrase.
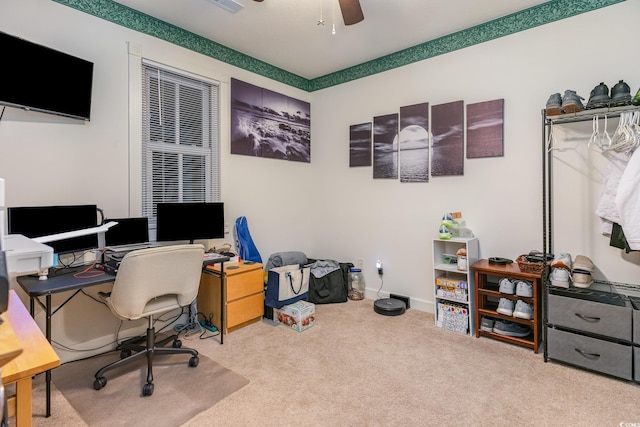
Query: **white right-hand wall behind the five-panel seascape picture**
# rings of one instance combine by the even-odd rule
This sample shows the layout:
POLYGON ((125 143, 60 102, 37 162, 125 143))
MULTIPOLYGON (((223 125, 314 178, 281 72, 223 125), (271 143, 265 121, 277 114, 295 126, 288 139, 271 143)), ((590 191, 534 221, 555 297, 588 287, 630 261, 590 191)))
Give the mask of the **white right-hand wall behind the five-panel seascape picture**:
MULTIPOLYGON (((542 249, 541 110, 554 92, 573 89, 588 98, 599 82, 611 88, 624 79, 634 95, 640 57, 629 41, 640 35, 637 16, 640 2, 625 2, 314 93, 314 173, 327 197, 316 214, 330 224, 315 230, 317 252, 364 258, 372 298, 381 285, 375 261, 382 259, 382 293, 409 295, 415 307, 433 311, 431 239, 443 212, 462 211, 481 257, 515 259, 542 249), (349 125, 419 102, 498 98, 505 100, 504 157, 465 160, 464 176, 400 183, 374 180, 372 168, 349 168, 349 125)), ((584 126, 586 144, 591 123, 584 126)), ((592 192, 599 194, 601 179, 592 192)), ((595 205, 584 206, 583 187, 556 193, 573 206, 564 221, 593 222, 595 205)), ((637 282, 638 254, 621 257, 593 227, 557 228, 555 236, 556 252, 593 257, 607 279, 637 282), (587 231, 590 244, 577 245, 587 231)))

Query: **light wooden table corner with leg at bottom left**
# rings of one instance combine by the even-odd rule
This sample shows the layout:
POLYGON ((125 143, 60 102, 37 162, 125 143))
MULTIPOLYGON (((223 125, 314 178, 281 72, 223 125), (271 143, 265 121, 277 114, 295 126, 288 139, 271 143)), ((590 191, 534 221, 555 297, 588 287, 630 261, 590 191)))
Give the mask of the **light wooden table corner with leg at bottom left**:
MULTIPOLYGON (((60 358, 15 291, 10 291, 9 308, 0 317, 0 330, 12 330, 22 347, 22 353, 2 367, 2 383, 16 384, 16 395, 8 400, 9 414, 15 412, 16 426, 31 426, 31 377, 60 366, 60 358)), ((0 346, 4 347, 4 342, 0 346)))

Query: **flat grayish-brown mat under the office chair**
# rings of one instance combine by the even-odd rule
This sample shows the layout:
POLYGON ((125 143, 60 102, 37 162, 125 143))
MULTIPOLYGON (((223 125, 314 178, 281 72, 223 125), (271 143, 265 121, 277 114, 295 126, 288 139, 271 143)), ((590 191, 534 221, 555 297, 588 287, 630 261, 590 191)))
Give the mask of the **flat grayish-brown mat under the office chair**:
POLYGON ((181 425, 249 383, 203 355, 195 368, 188 366, 190 356, 170 355, 154 362, 151 396, 142 396, 146 359, 107 372, 107 385, 94 390, 96 371, 119 354, 66 363, 52 371, 55 386, 90 426, 181 425))

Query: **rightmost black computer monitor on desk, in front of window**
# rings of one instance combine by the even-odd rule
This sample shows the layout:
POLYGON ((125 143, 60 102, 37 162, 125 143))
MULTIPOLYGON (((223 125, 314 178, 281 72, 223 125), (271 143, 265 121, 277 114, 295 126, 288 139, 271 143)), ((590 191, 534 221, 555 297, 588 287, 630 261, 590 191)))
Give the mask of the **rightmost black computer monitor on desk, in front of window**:
POLYGON ((156 240, 171 242, 224 238, 224 205, 210 203, 158 203, 156 240))

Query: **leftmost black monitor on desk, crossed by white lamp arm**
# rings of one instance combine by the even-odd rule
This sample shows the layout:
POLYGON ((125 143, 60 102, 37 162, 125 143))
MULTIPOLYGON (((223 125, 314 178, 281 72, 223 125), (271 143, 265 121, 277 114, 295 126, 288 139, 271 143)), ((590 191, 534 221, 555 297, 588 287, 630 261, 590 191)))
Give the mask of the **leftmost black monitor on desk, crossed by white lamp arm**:
MULTIPOLYGON (((28 206, 7 208, 9 234, 35 238, 82 230, 98 225, 96 205, 28 206)), ((98 235, 74 237, 45 243, 53 252, 80 252, 98 247, 98 235)))

